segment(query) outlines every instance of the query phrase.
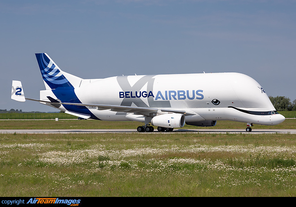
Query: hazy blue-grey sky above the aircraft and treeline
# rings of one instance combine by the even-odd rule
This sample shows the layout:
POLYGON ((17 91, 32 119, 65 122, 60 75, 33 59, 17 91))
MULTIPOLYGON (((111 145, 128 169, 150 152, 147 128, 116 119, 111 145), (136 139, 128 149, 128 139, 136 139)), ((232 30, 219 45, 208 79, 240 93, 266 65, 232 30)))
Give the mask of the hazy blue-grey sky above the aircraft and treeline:
POLYGON ((85 79, 238 72, 293 101, 295 11, 292 0, 1 0, 0 109, 59 111, 11 99, 12 80, 26 97, 45 90, 35 53, 85 79))

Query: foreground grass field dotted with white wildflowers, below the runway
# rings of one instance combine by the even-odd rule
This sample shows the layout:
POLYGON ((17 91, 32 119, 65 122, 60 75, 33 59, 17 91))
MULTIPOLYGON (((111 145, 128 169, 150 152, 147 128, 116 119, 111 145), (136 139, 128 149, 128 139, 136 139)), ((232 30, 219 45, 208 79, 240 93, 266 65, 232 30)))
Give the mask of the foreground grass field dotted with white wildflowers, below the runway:
POLYGON ((295 145, 294 134, 0 134, 0 196, 296 196, 295 145))

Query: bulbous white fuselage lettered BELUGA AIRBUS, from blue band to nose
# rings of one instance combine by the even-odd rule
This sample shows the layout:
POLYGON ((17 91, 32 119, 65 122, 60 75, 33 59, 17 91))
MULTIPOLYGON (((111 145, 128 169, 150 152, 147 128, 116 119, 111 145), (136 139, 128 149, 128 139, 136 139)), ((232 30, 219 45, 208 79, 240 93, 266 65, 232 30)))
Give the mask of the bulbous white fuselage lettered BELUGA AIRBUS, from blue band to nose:
MULTIPOLYGON (((186 122, 231 120, 276 125, 284 120, 275 114, 261 85, 239 73, 116 76, 85 82, 74 90, 82 103, 193 112, 185 117, 186 122)), ((126 118, 129 113, 88 109, 100 120, 131 120, 126 118)))

